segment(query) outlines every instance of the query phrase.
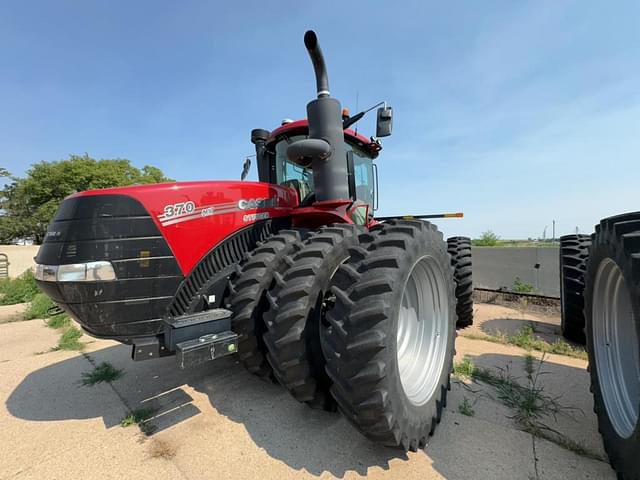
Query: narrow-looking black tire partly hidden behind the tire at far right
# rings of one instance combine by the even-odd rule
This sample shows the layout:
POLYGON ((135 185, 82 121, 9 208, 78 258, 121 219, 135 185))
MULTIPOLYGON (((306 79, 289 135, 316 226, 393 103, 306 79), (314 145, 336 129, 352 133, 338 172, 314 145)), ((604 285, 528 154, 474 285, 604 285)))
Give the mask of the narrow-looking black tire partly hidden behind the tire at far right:
POLYGON ((560 310, 562 335, 584 345, 584 274, 589 259, 590 235, 560 237, 560 310))

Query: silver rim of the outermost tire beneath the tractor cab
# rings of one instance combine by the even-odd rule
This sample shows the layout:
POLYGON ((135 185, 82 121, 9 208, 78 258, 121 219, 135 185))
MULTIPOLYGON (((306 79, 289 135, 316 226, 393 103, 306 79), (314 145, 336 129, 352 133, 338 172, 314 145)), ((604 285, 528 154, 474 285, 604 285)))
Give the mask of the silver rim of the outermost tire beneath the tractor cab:
POLYGON ((411 269, 398 313, 400 382, 409 401, 424 405, 439 385, 449 337, 449 291, 434 258, 424 256, 411 269))

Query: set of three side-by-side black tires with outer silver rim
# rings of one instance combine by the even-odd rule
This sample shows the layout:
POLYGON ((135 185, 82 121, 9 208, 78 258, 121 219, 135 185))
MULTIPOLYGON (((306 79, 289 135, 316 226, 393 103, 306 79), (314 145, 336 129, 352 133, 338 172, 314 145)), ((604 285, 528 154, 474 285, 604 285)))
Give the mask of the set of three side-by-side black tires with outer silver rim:
POLYGON ((268 253, 277 271, 262 262, 252 273, 252 256, 236 280, 234 325, 262 334, 240 343, 245 365, 311 407, 339 408, 372 440, 423 448, 446 404, 456 335, 455 269, 442 233, 399 220, 371 232, 331 225, 304 241, 285 235, 289 247, 274 253, 268 241, 270 253, 253 255, 268 253), (249 285, 267 286, 264 296, 249 285))

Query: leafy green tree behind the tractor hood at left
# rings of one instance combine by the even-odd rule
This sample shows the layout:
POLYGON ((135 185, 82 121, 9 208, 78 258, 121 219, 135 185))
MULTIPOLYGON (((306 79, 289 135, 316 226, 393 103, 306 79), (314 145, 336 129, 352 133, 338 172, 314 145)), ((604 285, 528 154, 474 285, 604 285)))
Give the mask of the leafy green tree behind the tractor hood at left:
POLYGON ((87 154, 39 162, 31 166, 25 178, 10 178, 12 182, 0 191, 2 243, 16 238, 33 238, 41 243, 60 202, 72 193, 172 181, 157 167, 146 165, 140 170, 129 160, 95 160, 87 154))

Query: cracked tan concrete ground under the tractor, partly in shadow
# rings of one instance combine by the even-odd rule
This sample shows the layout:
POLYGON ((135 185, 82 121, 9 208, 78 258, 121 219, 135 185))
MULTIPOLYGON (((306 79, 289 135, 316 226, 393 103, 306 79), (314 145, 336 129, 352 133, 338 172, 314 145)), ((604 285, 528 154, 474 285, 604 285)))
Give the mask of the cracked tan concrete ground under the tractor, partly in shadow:
MULTIPOLYGON (((556 316, 484 304, 476 306, 476 319, 457 339, 457 358, 516 378, 525 375, 524 350, 465 335, 533 322, 552 339, 559 323, 556 316)), ((372 444, 339 414, 298 404, 236 358, 182 371, 173 358, 134 363, 128 347, 86 336, 83 353, 49 352, 57 338, 39 320, 0 325, 2 479, 615 478, 597 459, 604 453, 580 359, 545 357, 540 385, 566 410, 542 420, 587 456, 522 431, 491 387, 459 380, 429 445, 404 454, 372 444), (101 362, 124 376, 80 386, 82 373, 101 362), (460 412, 463 404, 472 416, 460 412), (156 410, 151 435, 120 426, 140 406, 156 410)))

